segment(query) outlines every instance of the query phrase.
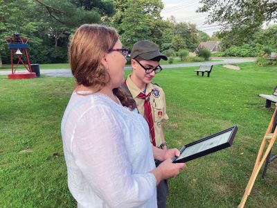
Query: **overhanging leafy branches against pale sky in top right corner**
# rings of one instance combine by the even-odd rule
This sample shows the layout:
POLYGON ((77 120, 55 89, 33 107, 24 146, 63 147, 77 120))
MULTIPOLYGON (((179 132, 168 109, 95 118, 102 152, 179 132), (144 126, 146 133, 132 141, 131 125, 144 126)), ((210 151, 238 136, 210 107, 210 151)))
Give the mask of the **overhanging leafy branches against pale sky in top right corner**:
POLYGON ((208 24, 222 26, 220 36, 234 37, 237 44, 251 40, 263 23, 277 18, 276 0, 202 0, 200 3, 203 6, 197 12, 209 12, 208 24))

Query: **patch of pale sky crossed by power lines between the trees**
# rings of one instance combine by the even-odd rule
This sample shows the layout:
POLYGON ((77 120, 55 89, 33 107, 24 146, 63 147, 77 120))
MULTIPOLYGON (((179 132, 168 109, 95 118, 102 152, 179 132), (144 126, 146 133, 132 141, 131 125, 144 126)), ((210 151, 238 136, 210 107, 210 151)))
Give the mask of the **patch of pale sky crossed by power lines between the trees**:
POLYGON ((171 15, 175 16, 177 22, 185 21, 196 24, 199 31, 213 35, 219 31, 219 26, 204 24, 208 13, 195 12, 202 4, 195 0, 162 0, 164 4, 161 10, 161 17, 166 19, 171 15))

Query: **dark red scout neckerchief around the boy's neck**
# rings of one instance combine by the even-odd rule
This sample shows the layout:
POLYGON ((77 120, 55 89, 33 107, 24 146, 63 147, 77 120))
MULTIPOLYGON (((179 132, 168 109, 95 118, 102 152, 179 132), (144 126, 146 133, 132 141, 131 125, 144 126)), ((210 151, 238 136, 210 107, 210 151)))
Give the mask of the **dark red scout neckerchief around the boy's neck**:
MULTIPOLYGON (((125 80, 124 84, 127 87, 126 80, 125 80)), ((151 105, 150 105, 150 95, 151 95, 151 93, 152 93, 152 91, 150 93, 148 93, 148 95, 146 95, 146 94, 140 92, 140 94, 137 97, 145 100, 144 101, 145 120, 147 121, 148 126, 149 126, 152 145, 156 146, 154 122, 153 122, 153 117, 152 117, 152 112, 151 112, 151 105)))

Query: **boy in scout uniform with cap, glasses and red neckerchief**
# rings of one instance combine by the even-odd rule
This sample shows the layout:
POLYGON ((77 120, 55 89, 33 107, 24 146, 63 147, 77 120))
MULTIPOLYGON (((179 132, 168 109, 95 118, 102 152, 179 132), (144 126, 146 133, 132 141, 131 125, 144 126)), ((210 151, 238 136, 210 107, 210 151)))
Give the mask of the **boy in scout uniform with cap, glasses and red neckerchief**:
MULTIPOLYGON (((162 68, 161 59, 168 60, 166 55, 159 52, 159 46, 153 42, 143 40, 136 42, 131 51, 132 73, 127 76, 125 85, 136 101, 139 113, 148 122, 150 140, 153 146, 166 149, 161 122, 168 119, 166 114, 166 97, 163 89, 152 83, 152 78, 162 68)), ((156 166, 159 162, 156 162, 156 166)), ((166 207, 168 184, 163 180, 157 187, 158 207, 166 207)))

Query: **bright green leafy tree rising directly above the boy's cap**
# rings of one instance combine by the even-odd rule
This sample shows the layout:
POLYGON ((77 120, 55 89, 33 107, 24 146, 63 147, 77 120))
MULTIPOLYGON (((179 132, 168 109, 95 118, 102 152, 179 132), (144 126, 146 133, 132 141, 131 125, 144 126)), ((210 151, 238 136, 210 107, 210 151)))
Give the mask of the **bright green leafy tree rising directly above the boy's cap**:
POLYGON ((139 40, 151 40, 160 45, 163 28, 166 27, 160 15, 162 8, 160 0, 116 1, 116 15, 112 22, 123 45, 132 49, 139 40))

